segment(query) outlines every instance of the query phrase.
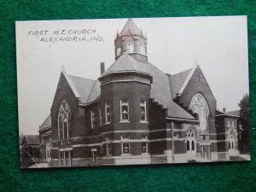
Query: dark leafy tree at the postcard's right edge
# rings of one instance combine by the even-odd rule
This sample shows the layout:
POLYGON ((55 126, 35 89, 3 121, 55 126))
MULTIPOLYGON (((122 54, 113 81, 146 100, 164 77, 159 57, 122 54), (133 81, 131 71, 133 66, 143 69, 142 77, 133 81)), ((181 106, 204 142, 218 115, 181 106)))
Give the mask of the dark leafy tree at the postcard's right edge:
POLYGON ((241 137, 239 139, 239 150, 241 153, 250 152, 250 135, 249 135, 249 119, 250 119, 250 108, 249 108, 249 95, 246 93, 238 106, 240 107, 240 118, 239 118, 239 132, 241 137))

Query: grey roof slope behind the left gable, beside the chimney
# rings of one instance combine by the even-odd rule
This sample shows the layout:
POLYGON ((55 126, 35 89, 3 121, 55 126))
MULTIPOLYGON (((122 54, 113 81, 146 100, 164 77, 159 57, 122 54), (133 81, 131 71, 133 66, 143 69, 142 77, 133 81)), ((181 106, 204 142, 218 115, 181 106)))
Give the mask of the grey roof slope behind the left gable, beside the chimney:
POLYGON ((96 100, 101 94, 100 82, 93 79, 85 79, 73 75, 68 75, 64 70, 63 75, 73 90, 74 95, 81 99, 82 103, 89 103, 96 100))

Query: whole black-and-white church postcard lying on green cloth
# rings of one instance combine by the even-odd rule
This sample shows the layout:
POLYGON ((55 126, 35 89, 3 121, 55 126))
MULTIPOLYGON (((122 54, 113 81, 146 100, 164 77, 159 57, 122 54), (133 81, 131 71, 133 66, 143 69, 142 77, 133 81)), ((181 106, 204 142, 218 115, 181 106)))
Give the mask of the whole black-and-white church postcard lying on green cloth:
POLYGON ((15 31, 20 168, 251 159, 247 16, 15 31))

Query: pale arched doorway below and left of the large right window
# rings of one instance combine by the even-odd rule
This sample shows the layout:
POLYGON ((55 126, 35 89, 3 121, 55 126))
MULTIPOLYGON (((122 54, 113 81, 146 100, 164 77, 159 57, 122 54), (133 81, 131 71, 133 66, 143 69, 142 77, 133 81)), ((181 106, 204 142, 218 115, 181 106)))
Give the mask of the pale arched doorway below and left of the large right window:
POLYGON ((196 139, 195 132, 189 127, 186 137, 186 147, 189 160, 196 157, 196 139))

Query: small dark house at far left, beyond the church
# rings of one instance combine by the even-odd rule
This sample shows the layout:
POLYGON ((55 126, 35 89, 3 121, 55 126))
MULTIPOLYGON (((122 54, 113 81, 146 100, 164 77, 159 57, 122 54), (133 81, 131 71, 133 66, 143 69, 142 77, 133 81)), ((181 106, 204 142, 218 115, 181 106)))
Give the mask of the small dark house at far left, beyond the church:
POLYGON ((39 137, 37 135, 23 135, 20 139, 20 163, 30 166, 39 161, 39 137))

